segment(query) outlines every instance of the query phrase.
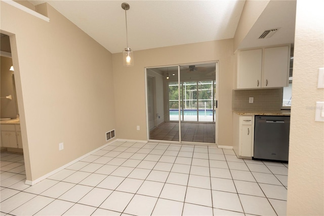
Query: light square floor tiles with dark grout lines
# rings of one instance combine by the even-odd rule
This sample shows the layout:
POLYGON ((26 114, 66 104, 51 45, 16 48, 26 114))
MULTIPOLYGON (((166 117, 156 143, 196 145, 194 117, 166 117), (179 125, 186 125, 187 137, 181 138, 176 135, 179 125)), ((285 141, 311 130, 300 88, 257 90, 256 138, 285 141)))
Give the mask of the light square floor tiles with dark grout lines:
POLYGON ((116 141, 34 186, 1 153, 1 215, 285 215, 288 164, 211 146, 116 141))

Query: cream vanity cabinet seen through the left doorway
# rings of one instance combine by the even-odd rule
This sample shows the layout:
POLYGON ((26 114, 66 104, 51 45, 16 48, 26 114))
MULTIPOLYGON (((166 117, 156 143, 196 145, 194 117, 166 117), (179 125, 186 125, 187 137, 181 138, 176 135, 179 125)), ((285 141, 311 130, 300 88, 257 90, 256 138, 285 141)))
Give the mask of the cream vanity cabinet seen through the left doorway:
POLYGON ((2 147, 22 149, 20 125, 2 124, 1 139, 2 139, 2 147))

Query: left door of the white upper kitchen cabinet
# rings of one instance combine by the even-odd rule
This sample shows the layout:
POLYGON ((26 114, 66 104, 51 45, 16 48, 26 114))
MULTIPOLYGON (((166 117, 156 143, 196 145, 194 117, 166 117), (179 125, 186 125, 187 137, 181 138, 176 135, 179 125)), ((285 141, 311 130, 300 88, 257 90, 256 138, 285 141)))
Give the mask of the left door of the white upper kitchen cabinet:
POLYGON ((262 73, 262 49, 239 52, 237 88, 260 88, 262 73))

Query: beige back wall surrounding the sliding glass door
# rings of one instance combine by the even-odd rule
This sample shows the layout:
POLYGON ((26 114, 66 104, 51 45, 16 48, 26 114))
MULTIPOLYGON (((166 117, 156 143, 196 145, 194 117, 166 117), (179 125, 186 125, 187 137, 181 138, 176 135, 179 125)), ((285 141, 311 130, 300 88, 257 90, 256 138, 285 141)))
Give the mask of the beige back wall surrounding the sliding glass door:
POLYGON ((145 67, 219 60, 219 145, 232 146, 231 90, 233 40, 156 48, 134 52, 134 66, 124 67, 121 53, 113 54, 116 122, 119 137, 147 140, 145 67), (139 125, 141 130, 136 130, 139 125))

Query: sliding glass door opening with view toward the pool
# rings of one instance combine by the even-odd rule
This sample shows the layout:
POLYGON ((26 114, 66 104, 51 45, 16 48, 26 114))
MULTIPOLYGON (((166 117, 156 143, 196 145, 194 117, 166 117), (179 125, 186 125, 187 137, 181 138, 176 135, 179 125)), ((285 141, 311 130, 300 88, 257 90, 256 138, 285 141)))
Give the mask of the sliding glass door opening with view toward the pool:
POLYGON ((217 145, 218 62, 146 68, 148 140, 217 145))

